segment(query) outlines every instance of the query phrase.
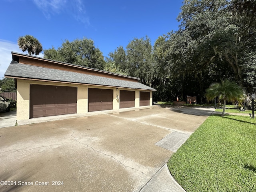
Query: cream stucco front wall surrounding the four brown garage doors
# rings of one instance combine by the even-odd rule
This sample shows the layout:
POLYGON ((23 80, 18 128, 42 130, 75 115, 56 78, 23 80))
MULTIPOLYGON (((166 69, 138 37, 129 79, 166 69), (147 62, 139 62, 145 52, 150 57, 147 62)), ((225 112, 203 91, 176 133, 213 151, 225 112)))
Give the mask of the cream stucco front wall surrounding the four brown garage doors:
MULTIPOLYGON (((112 89, 113 90, 113 110, 118 110, 120 107, 120 102, 119 102, 120 88, 17 79, 17 120, 29 119, 30 84, 77 87, 77 114, 86 114, 88 112, 88 88, 112 89)), ((121 88, 121 90, 131 90, 131 89, 121 88)), ((149 91, 149 92, 150 92, 150 105, 152 105, 152 91, 149 91)), ((135 90, 135 107, 140 107, 140 90, 135 90)))

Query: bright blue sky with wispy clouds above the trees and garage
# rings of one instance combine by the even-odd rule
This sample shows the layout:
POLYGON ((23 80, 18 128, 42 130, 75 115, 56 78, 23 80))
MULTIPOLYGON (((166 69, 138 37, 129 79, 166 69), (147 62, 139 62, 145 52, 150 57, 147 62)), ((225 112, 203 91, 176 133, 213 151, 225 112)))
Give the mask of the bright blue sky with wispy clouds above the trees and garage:
POLYGON ((154 44, 159 36, 178 30, 182 1, 1 0, 0 78, 12 60, 11 51, 23 53, 17 45, 20 36, 34 36, 43 49, 85 37, 108 56, 134 38, 148 36, 154 44))

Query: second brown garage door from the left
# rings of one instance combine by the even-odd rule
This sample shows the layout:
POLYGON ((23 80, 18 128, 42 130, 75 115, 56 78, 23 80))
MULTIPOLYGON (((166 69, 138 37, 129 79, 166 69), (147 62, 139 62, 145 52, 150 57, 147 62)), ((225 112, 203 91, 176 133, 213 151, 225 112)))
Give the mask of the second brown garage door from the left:
POLYGON ((88 112, 113 109, 113 90, 88 88, 88 112))

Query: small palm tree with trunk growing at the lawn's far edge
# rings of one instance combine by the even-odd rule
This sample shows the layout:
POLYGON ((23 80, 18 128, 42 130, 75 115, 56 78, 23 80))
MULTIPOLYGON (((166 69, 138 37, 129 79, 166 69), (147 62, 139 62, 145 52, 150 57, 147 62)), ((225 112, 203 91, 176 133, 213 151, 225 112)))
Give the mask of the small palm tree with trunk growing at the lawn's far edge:
POLYGON ((222 116, 225 114, 226 101, 227 102, 242 102, 245 99, 244 90, 237 84, 230 80, 222 80, 220 83, 213 83, 206 89, 206 99, 213 101, 216 97, 221 101, 223 100, 222 116))

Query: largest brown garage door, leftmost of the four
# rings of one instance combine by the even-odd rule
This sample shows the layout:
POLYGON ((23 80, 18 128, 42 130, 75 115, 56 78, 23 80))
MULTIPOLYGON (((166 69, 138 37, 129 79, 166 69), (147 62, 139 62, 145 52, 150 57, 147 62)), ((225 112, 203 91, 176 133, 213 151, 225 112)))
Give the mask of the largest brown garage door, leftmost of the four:
POLYGON ((30 118, 76 113, 77 88, 30 85, 30 118))

